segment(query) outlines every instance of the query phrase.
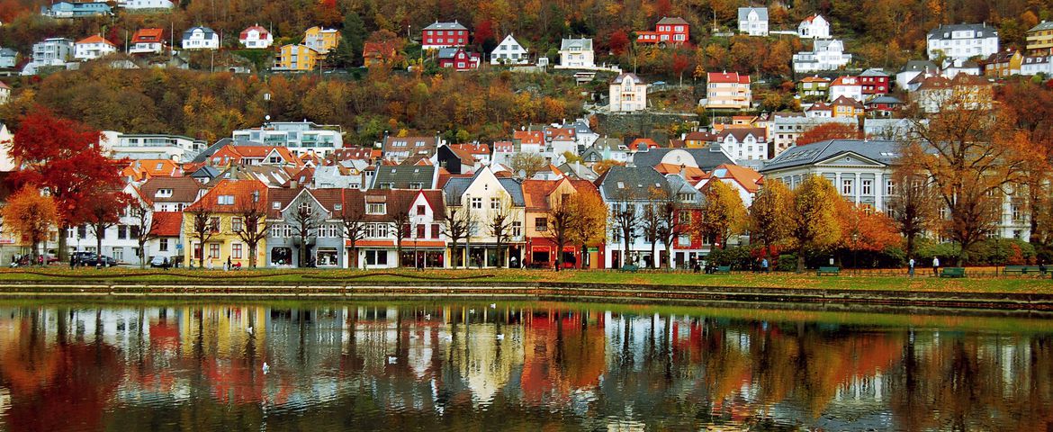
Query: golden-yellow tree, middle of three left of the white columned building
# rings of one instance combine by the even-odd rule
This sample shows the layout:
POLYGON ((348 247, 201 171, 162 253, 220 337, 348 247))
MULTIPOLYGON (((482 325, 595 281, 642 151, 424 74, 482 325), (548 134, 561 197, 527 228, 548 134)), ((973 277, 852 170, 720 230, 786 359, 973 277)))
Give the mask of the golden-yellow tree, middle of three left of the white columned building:
POLYGON ((764 256, 790 233, 793 193, 781 181, 766 181, 749 209, 750 241, 759 242, 764 256))

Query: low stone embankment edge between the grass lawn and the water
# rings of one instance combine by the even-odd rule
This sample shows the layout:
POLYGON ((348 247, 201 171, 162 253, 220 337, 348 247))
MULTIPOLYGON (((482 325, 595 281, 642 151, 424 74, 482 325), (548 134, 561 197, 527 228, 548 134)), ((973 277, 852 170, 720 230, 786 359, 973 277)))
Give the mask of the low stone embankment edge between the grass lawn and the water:
POLYGON ((58 300, 525 300, 639 305, 810 305, 858 309, 933 308, 971 311, 1053 311, 1053 294, 814 288, 698 287, 648 283, 491 282, 480 280, 360 283, 0 282, 0 299, 58 300), (265 283, 265 284, 264 284, 265 283), (484 284, 485 283, 485 284, 484 284))

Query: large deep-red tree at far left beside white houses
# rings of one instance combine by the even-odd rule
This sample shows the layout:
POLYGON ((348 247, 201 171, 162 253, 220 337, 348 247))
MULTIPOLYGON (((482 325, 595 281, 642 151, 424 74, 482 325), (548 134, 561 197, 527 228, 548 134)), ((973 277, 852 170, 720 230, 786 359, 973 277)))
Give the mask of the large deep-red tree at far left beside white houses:
POLYGON ((12 140, 9 154, 20 163, 12 180, 16 185, 38 184, 46 189, 58 204, 60 225, 59 257, 66 254, 65 230, 84 222, 81 208, 96 191, 120 190, 119 174, 126 161, 115 161, 102 154, 102 135, 87 125, 56 117, 37 106, 22 117, 12 140))

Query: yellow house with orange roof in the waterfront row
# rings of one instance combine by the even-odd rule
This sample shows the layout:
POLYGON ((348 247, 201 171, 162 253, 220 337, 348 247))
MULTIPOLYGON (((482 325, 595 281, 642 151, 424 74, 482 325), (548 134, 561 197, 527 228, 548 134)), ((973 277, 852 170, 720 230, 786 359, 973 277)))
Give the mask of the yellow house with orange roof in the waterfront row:
POLYGON ((250 216, 255 209, 256 264, 263 264, 266 251, 267 189, 258 180, 223 180, 183 211, 183 262, 222 269, 232 264, 249 268, 253 251, 243 233, 253 233, 250 216), (239 233, 242 233, 239 235, 239 233), (203 237, 203 238, 202 238, 203 237), (202 239, 203 247, 202 247, 202 239), (203 261, 202 261, 203 256, 203 261))

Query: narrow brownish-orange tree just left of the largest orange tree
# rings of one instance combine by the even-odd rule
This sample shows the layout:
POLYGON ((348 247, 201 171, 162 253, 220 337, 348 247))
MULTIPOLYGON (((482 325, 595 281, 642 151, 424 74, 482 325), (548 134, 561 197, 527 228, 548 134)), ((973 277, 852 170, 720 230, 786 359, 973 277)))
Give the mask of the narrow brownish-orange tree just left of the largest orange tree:
POLYGON ((914 257, 917 238, 927 231, 939 228, 939 196, 933 189, 929 175, 918 164, 921 148, 903 146, 899 162, 892 171, 892 196, 888 213, 906 240, 909 258, 914 257))

